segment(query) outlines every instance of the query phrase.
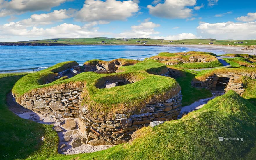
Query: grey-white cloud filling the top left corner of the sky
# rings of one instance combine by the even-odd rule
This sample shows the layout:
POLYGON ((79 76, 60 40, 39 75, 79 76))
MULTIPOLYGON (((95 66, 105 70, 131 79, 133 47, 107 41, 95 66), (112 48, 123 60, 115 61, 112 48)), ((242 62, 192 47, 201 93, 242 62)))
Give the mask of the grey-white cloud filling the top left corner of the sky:
POLYGON ((1 0, 0 17, 21 14, 28 11, 50 10, 68 0, 1 0))

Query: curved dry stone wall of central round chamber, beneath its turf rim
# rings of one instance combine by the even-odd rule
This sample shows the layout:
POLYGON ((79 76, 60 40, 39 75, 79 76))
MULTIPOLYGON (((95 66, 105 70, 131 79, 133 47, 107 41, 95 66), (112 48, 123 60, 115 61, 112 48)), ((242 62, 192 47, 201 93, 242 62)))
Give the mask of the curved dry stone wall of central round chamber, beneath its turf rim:
POLYGON ((95 143, 99 140, 101 145, 106 144, 121 144, 129 141, 131 135, 137 129, 148 126, 152 121, 175 120, 181 110, 182 95, 179 92, 177 95, 169 99, 146 104, 138 114, 116 114, 115 119, 108 121, 91 120, 86 117, 88 110, 86 107, 80 109, 79 127, 88 144, 95 143), (92 140, 93 141, 90 141, 92 140), (105 142, 105 143, 104 143, 105 142))

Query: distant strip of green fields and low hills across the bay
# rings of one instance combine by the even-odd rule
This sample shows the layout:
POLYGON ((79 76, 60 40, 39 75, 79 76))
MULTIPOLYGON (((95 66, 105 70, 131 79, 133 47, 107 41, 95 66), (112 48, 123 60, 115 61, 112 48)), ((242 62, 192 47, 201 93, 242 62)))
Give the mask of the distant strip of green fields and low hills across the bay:
MULTIPOLYGON (((216 39, 184 39, 184 40, 161 40, 150 38, 130 38, 130 39, 116 39, 107 37, 96 38, 53 38, 46 40, 22 41, 11 43, 45 43, 45 44, 63 44, 63 45, 101 45, 104 41, 105 45, 134 45, 146 43, 147 45, 160 45, 160 44, 217 44, 217 45, 243 45, 251 46, 256 45, 256 40, 216 40, 216 39), (137 42, 140 41, 140 42, 137 42), (235 42, 243 42, 237 44, 235 42)), ((8 43, 8 42, 7 42, 8 43)), ((10 43, 10 42, 9 42, 10 43)))

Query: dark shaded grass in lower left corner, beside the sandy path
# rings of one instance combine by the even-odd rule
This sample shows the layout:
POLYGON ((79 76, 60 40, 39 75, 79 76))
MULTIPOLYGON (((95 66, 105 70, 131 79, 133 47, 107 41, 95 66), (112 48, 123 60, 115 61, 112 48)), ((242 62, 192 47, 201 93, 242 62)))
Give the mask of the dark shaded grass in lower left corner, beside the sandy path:
POLYGON ((46 159, 57 155, 58 135, 51 125, 19 118, 6 106, 6 94, 25 74, 0 74, 1 159, 46 159), (45 141, 42 142, 41 138, 45 141))

